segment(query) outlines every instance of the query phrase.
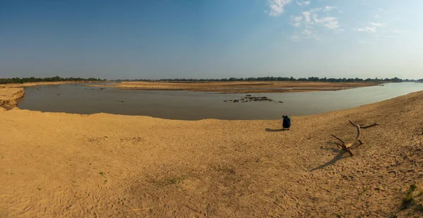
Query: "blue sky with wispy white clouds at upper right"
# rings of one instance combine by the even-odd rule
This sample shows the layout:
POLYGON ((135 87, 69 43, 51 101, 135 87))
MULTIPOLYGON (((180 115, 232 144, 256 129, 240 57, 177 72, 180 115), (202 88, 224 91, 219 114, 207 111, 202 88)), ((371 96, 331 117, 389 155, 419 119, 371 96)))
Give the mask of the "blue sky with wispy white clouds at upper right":
POLYGON ((423 78, 419 0, 0 0, 0 78, 423 78))

